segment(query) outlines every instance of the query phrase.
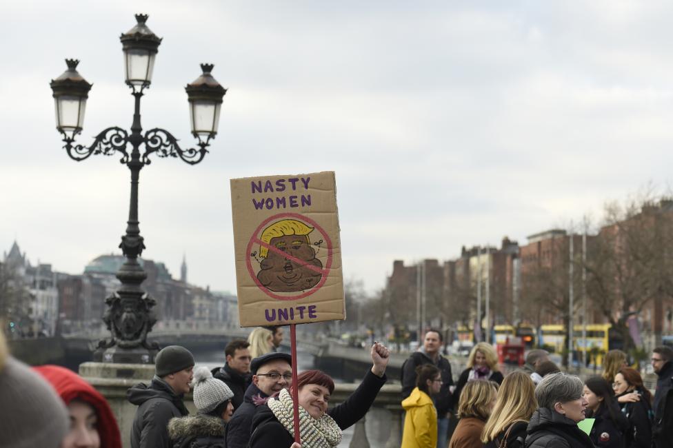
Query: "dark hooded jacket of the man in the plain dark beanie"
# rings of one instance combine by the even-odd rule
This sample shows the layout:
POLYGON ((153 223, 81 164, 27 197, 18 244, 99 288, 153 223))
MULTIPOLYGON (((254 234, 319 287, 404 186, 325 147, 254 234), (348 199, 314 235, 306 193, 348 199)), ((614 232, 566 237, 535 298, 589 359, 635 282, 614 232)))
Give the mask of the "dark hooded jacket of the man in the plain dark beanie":
POLYGON ((126 398, 138 406, 131 426, 131 448, 171 448, 169 420, 189 414, 182 395, 155 376, 149 386, 139 383, 128 389, 126 398))

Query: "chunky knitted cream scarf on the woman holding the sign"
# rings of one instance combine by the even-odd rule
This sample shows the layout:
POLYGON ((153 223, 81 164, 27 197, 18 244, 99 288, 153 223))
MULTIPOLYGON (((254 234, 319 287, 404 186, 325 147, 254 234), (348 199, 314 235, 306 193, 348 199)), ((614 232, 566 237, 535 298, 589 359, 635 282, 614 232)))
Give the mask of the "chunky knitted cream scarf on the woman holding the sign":
MULTIPOLYGON (((278 421, 294 437, 294 409, 292 409, 290 392, 283 389, 278 398, 275 400, 272 398, 266 404, 278 421)), ((328 414, 316 420, 308 414, 306 409, 299 406, 299 440, 301 440, 301 448, 336 447, 341 442, 341 428, 328 414)))

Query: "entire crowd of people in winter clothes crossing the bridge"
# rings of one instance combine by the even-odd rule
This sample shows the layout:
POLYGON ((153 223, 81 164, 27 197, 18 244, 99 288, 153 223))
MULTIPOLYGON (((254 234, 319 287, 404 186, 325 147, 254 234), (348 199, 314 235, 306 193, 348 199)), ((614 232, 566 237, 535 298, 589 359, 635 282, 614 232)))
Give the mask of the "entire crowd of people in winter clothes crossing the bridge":
MULTIPOLYGON (((361 420, 385 384, 388 349, 374 343, 372 367, 341 404, 328 407, 334 380, 319 370, 297 375, 299 435, 294 442, 292 357, 278 352, 274 328, 225 347, 223 367, 194 369, 185 347, 161 349, 149 383, 130 387, 137 406, 132 448, 330 448, 361 420), (266 343, 265 353, 252 347, 266 343), (197 412, 184 395, 192 391, 197 412)), ((430 329, 402 366, 402 448, 663 448, 673 447, 673 349, 650 358, 659 377, 654 394, 627 356, 612 350, 603 374, 581 380, 528 352, 521 369, 503 376, 494 348, 476 344, 453 382, 430 329), (591 418, 590 424, 583 420, 591 418)), ((122 435, 106 399, 63 367, 28 367, 12 358, 0 335, 0 446, 121 448, 122 435)))

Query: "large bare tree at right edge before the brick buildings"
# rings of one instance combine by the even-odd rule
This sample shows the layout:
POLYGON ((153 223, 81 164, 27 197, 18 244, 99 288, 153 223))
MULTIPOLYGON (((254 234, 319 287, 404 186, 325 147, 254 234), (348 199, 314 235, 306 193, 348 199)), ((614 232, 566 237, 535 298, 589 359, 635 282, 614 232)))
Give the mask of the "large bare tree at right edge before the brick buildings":
MULTIPOLYGON (((586 263, 594 309, 619 332, 627 351, 634 348, 630 316, 654 304, 661 318, 663 302, 673 297, 673 201, 650 197, 605 205, 603 227, 586 263)), ((661 336, 661 320, 654 332, 661 336)))

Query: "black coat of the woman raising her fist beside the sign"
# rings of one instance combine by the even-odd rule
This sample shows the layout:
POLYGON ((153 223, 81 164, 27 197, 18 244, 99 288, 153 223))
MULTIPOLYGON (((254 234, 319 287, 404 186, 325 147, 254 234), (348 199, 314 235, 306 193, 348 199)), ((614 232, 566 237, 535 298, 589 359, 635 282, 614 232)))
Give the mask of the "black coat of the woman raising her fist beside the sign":
MULTIPOLYGON (((341 405, 328 409, 328 415, 342 431, 351 427, 367 414, 386 380, 385 375, 379 378, 368 371, 358 388, 341 405)), ((294 434, 285 429, 267 405, 260 406, 252 418, 250 448, 290 448, 292 442, 294 434)))

